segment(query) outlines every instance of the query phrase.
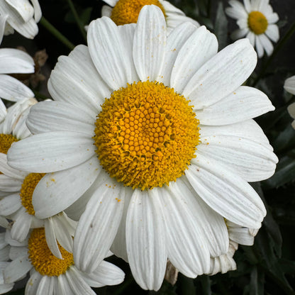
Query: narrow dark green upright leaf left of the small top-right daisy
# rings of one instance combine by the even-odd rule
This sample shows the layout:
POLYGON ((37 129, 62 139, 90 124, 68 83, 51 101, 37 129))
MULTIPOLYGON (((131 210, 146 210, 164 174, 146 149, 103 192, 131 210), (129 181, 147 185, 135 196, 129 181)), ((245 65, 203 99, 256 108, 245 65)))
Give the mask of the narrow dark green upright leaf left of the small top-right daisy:
POLYGON ((228 40, 228 19, 226 13, 224 13, 222 2, 218 3, 214 33, 218 39, 218 50, 225 48, 228 40))

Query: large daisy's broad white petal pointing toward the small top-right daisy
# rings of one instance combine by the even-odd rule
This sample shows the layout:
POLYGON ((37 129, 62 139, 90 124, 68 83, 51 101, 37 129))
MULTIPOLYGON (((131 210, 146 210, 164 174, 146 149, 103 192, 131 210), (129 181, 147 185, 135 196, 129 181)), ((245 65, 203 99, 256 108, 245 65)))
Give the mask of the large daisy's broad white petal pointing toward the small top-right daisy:
POLYGON ((238 40, 218 52, 191 78, 183 95, 200 109, 228 96, 250 76, 257 62, 247 39, 238 40))

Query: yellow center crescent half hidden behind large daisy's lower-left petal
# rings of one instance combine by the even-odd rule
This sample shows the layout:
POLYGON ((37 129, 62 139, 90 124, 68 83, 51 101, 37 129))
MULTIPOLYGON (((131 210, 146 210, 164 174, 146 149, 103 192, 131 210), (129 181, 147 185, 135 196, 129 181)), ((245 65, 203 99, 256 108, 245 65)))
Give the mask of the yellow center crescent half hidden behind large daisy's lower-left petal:
POLYGON ((45 173, 30 173, 23 179, 23 184, 21 185, 21 204, 26 208, 26 211, 30 215, 35 215, 35 210, 32 204, 32 197, 35 187, 45 173))

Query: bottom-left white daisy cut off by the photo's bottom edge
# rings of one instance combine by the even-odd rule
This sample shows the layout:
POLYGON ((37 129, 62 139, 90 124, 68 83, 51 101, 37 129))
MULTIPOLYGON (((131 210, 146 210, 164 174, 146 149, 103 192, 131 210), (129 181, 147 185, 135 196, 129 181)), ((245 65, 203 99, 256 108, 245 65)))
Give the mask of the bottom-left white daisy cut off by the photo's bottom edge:
POLYGON ((23 243, 12 240, 7 230, 6 241, 11 245, 9 257, 12 261, 3 267, 4 283, 13 284, 26 277, 29 272, 26 295, 95 295, 91 286, 101 287, 123 282, 123 271, 104 260, 93 272, 85 273, 74 265, 72 253, 61 246, 62 259, 52 255, 46 243, 44 228, 33 229, 30 237, 23 243))

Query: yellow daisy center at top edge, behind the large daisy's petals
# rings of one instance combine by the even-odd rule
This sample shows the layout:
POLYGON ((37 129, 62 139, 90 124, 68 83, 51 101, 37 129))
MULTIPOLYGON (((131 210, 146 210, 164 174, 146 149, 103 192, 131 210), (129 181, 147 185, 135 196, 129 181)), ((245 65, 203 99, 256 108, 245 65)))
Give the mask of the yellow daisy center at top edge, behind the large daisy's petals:
POLYGON ((111 19, 117 26, 136 23, 143 6, 152 4, 160 7, 165 15, 164 7, 157 0, 118 0, 111 11, 111 19))

